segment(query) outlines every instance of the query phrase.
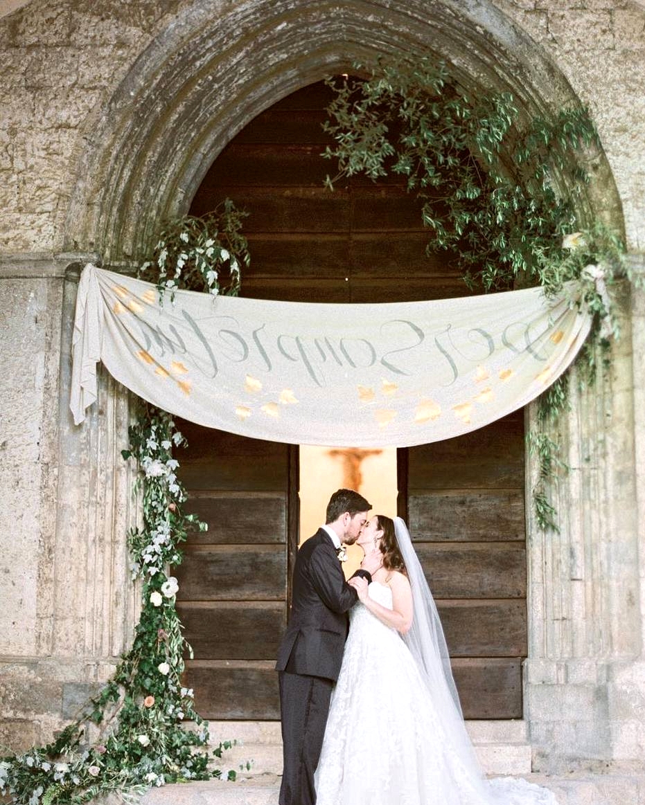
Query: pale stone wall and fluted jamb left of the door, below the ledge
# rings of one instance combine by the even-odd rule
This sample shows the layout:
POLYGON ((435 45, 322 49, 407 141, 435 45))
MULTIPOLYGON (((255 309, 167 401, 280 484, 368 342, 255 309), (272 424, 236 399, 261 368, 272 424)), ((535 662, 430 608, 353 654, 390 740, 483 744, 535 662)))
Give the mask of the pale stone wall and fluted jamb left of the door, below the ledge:
MULTIPOLYGON (((88 255, 88 258, 91 256, 88 255)), ((137 517, 127 446, 129 394, 104 372, 81 427, 68 407, 83 255, 3 258, 0 741, 49 741, 130 644, 136 601, 126 532, 137 517), (23 381, 18 382, 17 378, 23 381), (10 482, 11 481, 11 482, 10 482), (6 621, 6 622, 5 622, 6 621)))

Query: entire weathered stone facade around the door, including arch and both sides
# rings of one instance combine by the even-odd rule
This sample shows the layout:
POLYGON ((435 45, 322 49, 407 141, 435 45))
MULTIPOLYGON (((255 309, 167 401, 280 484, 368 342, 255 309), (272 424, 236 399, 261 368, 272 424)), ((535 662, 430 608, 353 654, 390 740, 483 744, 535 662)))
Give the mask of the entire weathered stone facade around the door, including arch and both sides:
MULTIPOLYGON (((83 255, 63 250, 129 259, 264 105, 354 56, 424 44, 528 109, 589 104, 605 152, 589 158, 596 208, 624 219, 639 263, 636 2, 31 0, 0 17, 0 743, 47 740, 72 716, 125 647, 135 609, 127 395, 104 377, 88 423, 69 421, 67 269, 83 255)), ((645 746, 643 304, 623 289, 614 375, 574 394, 562 425, 573 472, 561 534, 529 523, 526 701, 542 768, 634 762, 645 746)))

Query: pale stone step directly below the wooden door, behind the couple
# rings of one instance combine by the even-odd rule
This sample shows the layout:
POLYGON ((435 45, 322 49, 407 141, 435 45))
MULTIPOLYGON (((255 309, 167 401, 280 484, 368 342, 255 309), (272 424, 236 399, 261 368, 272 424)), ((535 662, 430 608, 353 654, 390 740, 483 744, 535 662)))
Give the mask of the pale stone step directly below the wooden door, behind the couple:
MULTIPOLYGON (((530 774, 531 745, 523 721, 468 721, 466 727, 486 774, 530 774)), ((211 721, 210 744, 238 741, 221 760, 225 770, 251 774, 282 773, 279 721, 211 721)))

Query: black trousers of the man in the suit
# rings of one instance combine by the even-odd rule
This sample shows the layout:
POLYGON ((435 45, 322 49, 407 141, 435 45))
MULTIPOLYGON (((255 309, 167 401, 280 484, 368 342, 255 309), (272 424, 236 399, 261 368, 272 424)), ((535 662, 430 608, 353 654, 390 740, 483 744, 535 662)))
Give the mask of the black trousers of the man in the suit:
POLYGON ((284 766, 279 805, 314 805, 313 775, 320 759, 334 682, 279 671, 284 766))

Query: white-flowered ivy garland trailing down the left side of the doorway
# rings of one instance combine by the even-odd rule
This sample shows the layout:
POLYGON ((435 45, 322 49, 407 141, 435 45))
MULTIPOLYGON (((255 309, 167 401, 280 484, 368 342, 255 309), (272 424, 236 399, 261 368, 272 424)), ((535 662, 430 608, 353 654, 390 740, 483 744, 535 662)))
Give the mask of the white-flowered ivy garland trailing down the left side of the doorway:
MULTIPOLYGON (((250 262, 243 215, 226 200, 208 217, 172 222, 139 276, 154 279, 162 297, 180 287, 236 295, 241 268, 250 262)), ((0 760, 0 792, 20 805, 76 805, 108 791, 134 801, 167 782, 235 778, 234 770, 217 763, 234 741, 208 748, 208 725, 194 708, 192 690, 181 683, 184 654, 192 651, 182 634, 179 587, 170 568, 180 564, 188 532, 207 527, 184 511, 173 451, 185 440, 172 415, 143 401, 129 436, 122 455, 137 462, 134 493, 143 510, 141 524, 128 535, 132 577, 142 594, 134 642, 101 692, 52 743, 0 760), (195 728, 187 729, 184 720, 195 728)))

